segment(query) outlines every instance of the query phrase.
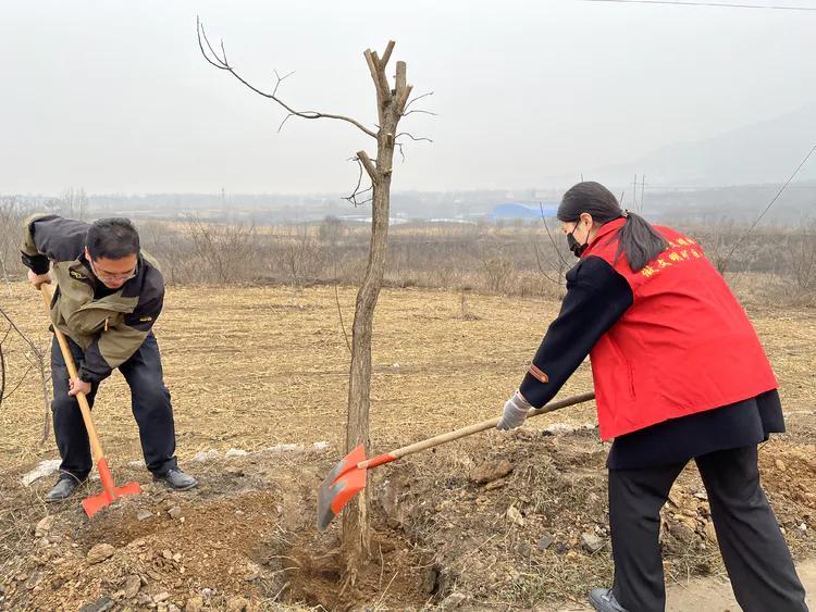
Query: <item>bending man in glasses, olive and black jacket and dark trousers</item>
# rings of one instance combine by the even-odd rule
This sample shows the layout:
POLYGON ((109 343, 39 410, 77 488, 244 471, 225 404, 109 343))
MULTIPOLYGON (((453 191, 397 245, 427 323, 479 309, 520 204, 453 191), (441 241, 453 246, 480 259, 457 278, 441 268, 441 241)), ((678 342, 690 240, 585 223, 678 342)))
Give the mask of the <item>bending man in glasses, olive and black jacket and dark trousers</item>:
POLYGON ((136 228, 126 218, 87 224, 37 214, 25 222, 22 251, 35 287, 57 282, 51 323, 67 337, 78 367, 78 378, 71 379, 54 337, 51 411, 62 464, 46 501, 65 499, 88 477, 90 447, 75 396, 85 392, 94 405, 99 384, 116 367, 131 387, 148 470, 174 489, 195 487, 176 463, 173 409, 152 333, 164 279, 140 250, 136 228))

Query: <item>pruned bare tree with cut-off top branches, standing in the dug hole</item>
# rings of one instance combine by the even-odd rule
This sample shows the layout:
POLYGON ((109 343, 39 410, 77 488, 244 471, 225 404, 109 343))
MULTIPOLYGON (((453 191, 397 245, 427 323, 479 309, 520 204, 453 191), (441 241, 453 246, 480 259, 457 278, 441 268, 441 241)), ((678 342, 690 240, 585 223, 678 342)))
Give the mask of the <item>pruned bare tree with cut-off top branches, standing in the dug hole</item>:
MULTIPOLYGON (((388 238, 388 210, 391 203, 391 183, 393 176, 394 152, 403 153, 400 138, 412 141, 417 138, 410 133, 399 132, 403 117, 411 113, 428 113, 424 110, 408 110, 417 100, 429 96, 410 99, 412 87, 408 85, 405 62, 396 63, 394 85, 388 80, 386 68, 394 51, 395 42, 390 40, 382 57, 371 49, 363 52, 371 79, 376 91, 378 122, 374 127, 367 127, 362 122, 346 115, 317 111, 296 110, 279 96, 282 82, 289 75, 281 77, 275 72, 276 83, 271 91, 264 91, 249 83, 236 72, 230 63, 223 40, 215 49, 207 37, 200 21, 197 21, 198 45, 205 59, 214 67, 231 74, 238 82, 286 111, 281 127, 292 117, 306 120, 331 118, 355 126, 376 143, 376 154, 372 158, 364 150, 357 151, 354 161, 359 165, 359 177, 350 196, 346 199, 355 205, 371 203, 371 240, 369 257, 363 273, 362 284, 357 292, 354 323, 351 325, 351 366, 348 385, 348 417, 346 424, 346 449, 358 445, 369 446, 369 407, 371 391, 371 335, 380 289, 385 271, 385 253, 388 238), (362 188, 363 177, 368 176, 369 187, 362 188)), ((429 113, 432 114, 432 113, 429 113)), ((279 128, 280 129, 280 128, 279 128)), ((354 583, 357 573, 370 555, 370 519, 368 513, 368 495, 363 489, 344 511, 343 516, 343 553, 346 560, 347 578, 354 583)))

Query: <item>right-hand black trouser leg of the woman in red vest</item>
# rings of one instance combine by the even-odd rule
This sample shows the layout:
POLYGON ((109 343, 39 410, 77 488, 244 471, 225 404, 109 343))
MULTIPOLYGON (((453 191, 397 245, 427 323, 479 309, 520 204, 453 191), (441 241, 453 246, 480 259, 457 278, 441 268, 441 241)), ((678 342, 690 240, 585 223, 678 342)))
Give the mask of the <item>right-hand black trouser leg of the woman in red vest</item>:
POLYGON ((805 590, 759 486, 756 446, 696 458, 722 560, 746 612, 802 612, 805 590))

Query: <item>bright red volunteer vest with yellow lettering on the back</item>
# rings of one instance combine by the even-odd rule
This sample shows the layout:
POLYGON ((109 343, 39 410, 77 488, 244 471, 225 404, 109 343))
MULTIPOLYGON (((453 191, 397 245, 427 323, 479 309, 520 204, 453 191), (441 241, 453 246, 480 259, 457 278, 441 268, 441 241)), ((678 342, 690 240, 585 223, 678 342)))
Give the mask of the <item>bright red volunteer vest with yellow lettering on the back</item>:
POLYGON ((634 301, 592 349, 604 440, 778 387, 745 311, 694 240, 655 226, 669 248, 632 272, 605 224, 583 255, 621 274, 634 301))

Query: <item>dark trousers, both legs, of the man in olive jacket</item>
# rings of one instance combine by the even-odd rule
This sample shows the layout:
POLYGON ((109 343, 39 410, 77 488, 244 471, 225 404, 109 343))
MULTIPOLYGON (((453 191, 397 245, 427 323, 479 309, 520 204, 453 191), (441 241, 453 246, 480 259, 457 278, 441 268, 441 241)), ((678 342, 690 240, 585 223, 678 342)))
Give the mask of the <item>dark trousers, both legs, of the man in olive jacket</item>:
MULTIPOLYGON (((67 338, 74 362, 83 360, 82 349, 67 338)), ((133 415, 139 426, 141 451, 145 463, 153 474, 161 475, 176 467, 175 427, 170 391, 164 386, 161 355, 156 336, 149 334, 131 359, 120 365, 119 371, 131 387, 133 415)), ((60 346, 54 337, 51 346, 51 377, 53 379, 53 430, 62 464, 60 470, 84 480, 92 466, 90 444, 85 429, 79 403, 69 392, 69 373, 62 359, 60 346)), ((88 403, 92 407, 99 385, 92 385, 88 403)))

